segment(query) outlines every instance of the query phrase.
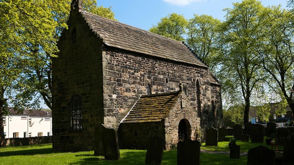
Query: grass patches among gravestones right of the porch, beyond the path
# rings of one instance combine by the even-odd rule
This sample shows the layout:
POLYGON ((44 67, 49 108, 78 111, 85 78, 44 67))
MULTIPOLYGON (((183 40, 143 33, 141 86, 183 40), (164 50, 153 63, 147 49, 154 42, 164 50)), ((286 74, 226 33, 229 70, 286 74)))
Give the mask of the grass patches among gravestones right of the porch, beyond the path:
MULTIPOLYGON (((232 136, 226 137, 232 138, 232 136)), ((264 137, 263 143, 241 142, 240 140, 236 143, 240 146, 240 152, 248 152, 249 149, 259 145, 263 145, 271 149, 270 145, 266 145, 266 136, 264 137)), ((205 146, 205 143, 202 143, 201 149, 206 151, 230 151, 229 142, 218 142, 218 146, 205 146)), ((283 146, 279 146, 278 150, 283 150, 283 146)))

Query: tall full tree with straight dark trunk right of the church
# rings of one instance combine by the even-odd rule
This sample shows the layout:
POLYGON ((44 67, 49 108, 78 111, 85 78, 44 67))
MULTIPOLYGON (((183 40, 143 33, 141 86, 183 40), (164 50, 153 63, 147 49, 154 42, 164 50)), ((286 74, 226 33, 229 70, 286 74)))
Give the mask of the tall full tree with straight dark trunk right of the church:
POLYGON ((231 99, 243 97, 243 121, 246 124, 250 97, 263 80, 257 53, 253 49, 259 40, 259 14, 263 6, 256 0, 244 0, 224 10, 227 14, 222 27, 223 55, 218 77, 223 82, 224 93, 229 93, 231 99))

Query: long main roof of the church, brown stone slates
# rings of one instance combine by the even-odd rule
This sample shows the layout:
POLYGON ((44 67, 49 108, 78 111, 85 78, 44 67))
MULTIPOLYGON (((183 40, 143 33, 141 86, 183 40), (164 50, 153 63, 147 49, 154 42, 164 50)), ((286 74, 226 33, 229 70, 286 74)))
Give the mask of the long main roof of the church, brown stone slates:
POLYGON ((208 68, 179 41, 83 10, 81 14, 90 28, 108 46, 208 68))

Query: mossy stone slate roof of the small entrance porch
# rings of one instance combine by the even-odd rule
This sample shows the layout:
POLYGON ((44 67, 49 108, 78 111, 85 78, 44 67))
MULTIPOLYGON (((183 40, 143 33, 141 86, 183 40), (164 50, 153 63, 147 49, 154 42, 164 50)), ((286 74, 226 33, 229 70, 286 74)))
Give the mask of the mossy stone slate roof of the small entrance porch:
POLYGON ((169 113, 181 91, 143 95, 122 123, 160 122, 169 113))

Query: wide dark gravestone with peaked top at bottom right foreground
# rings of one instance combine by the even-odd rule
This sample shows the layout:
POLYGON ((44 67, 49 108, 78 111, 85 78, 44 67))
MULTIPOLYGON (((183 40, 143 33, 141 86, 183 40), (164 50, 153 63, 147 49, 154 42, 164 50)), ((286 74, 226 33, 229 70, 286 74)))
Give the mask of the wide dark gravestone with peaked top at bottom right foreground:
POLYGON ((275 165, 275 152, 265 146, 248 150, 247 165, 275 165))

